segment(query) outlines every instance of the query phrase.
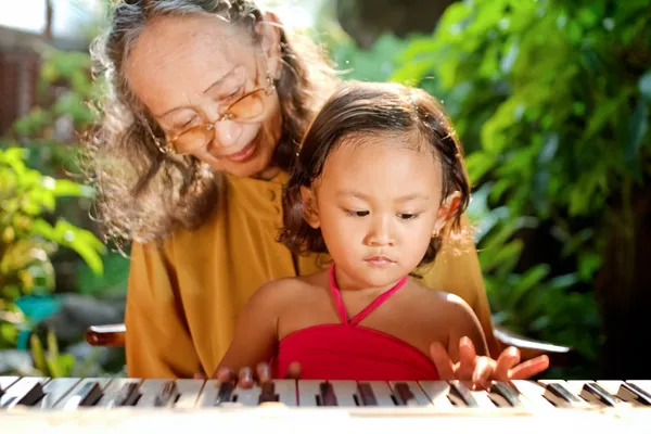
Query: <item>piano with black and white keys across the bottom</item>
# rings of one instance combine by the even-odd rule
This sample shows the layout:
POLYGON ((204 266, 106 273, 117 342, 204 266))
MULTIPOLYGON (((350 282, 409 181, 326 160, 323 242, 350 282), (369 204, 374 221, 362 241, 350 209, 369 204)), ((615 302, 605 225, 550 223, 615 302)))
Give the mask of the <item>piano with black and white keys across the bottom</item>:
POLYGON ((276 380, 243 390, 216 380, 0 376, 7 433, 394 427, 651 433, 651 380, 518 380, 485 391, 459 381, 276 380))

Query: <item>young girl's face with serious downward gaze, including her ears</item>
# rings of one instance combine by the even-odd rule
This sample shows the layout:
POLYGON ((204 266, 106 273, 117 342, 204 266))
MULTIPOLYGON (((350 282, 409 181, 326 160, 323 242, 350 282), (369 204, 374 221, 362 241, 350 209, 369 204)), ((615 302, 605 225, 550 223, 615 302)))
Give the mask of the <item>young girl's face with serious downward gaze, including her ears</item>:
POLYGON ((321 178, 304 190, 307 217, 320 227, 341 288, 391 286, 423 258, 450 209, 441 206, 441 164, 376 136, 343 142, 328 156, 321 178))

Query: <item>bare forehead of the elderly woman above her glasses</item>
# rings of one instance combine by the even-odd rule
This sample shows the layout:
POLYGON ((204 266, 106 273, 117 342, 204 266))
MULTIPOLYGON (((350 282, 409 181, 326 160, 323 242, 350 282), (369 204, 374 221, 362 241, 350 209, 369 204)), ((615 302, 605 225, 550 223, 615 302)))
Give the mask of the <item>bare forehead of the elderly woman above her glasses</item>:
POLYGON ((233 68, 255 73, 253 40, 216 15, 161 16, 136 40, 125 64, 130 88, 154 112, 191 103, 233 68))

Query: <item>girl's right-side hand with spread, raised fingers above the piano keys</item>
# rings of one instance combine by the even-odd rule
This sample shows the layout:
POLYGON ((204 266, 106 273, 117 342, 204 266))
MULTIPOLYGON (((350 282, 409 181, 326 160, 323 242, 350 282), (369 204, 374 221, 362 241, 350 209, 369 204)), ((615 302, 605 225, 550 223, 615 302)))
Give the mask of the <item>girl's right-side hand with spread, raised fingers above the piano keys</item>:
POLYGON ((525 380, 549 368, 549 357, 538 356, 520 363, 520 350, 506 348, 497 358, 477 356, 472 341, 459 341, 459 361, 452 363, 445 347, 435 342, 430 346, 430 356, 438 369, 442 380, 472 381, 474 387, 488 388, 492 381, 525 380))

